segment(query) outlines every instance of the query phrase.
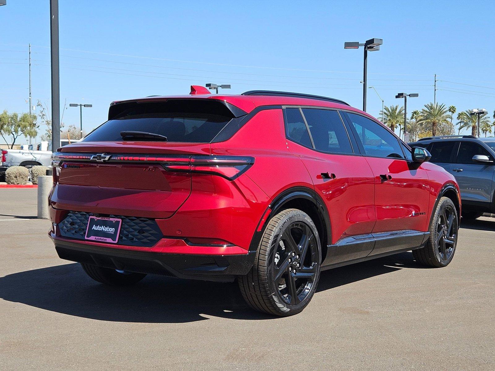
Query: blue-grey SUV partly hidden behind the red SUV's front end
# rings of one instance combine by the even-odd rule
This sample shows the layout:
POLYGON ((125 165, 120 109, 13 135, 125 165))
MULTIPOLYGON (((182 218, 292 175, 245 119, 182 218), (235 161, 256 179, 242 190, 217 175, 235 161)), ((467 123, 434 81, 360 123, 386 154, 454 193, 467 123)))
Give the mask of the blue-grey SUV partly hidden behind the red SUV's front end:
POLYGON ((495 213, 495 138, 430 137, 409 145, 426 148, 432 155, 430 162, 455 177, 461 190, 464 218, 495 213))

